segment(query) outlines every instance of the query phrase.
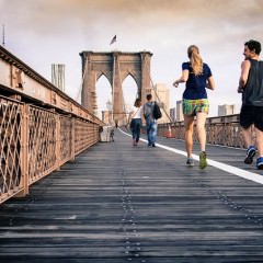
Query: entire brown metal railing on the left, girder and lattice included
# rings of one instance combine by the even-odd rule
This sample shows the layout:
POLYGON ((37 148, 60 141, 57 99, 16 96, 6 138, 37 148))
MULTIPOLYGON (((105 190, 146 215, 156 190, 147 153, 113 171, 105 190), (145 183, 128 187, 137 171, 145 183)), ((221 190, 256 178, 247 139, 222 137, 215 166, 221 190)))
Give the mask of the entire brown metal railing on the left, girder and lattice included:
POLYGON ((0 204, 99 141, 100 125, 0 46, 0 204))

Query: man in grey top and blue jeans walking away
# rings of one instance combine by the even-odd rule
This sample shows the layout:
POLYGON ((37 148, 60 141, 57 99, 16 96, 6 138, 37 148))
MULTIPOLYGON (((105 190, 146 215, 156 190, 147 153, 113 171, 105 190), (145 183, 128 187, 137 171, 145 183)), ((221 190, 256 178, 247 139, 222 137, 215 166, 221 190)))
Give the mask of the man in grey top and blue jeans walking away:
POLYGON ((146 119, 146 130, 148 138, 148 146, 156 147, 156 136, 157 136, 157 119, 153 117, 153 106, 152 95, 146 95, 147 102, 144 104, 144 117, 146 119))

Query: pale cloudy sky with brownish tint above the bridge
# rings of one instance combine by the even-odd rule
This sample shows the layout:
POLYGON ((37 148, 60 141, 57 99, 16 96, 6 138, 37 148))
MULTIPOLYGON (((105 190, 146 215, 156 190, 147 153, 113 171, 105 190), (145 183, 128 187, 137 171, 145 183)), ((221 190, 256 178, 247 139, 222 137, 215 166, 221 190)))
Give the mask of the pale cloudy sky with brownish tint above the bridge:
MULTIPOLYGON (((184 85, 172 83, 187 60, 187 47, 197 45, 217 85, 208 91, 210 116, 217 105, 240 104, 243 43, 263 44, 262 13, 263 0, 0 0, 4 47, 48 80, 52 64, 65 64, 66 93, 73 99, 81 87, 79 53, 148 50, 151 79, 167 84, 174 106, 184 85), (117 42, 110 46, 114 35, 117 42)), ((125 84, 129 92, 136 89, 133 81, 125 84)), ((98 89, 103 107, 110 84, 100 80, 98 89)))

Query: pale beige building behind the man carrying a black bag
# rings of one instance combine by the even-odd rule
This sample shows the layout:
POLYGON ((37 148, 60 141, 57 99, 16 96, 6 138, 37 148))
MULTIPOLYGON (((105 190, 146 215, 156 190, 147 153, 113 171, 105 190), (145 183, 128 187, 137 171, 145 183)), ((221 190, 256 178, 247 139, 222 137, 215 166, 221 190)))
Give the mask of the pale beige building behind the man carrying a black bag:
POLYGON ((161 104, 162 117, 158 123, 170 123, 170 90, 165 84, 156 84, 152 93, 152 100, 161 104))

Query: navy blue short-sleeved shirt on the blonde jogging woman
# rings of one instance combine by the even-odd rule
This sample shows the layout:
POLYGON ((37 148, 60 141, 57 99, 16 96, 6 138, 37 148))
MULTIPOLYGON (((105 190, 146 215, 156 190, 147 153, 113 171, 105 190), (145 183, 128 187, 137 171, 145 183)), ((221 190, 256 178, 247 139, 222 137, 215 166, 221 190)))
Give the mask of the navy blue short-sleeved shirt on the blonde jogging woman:
POLYGON ((203 73, 195 76, 191 66, 191 62, 183 62, 182 70, 188 70, 188 79, 185 84, 185 91, 183 99, 186 100, 199 100, 207 99, 206 81, 211 77, 210 68, 207 64, 203 64, 203 73))

